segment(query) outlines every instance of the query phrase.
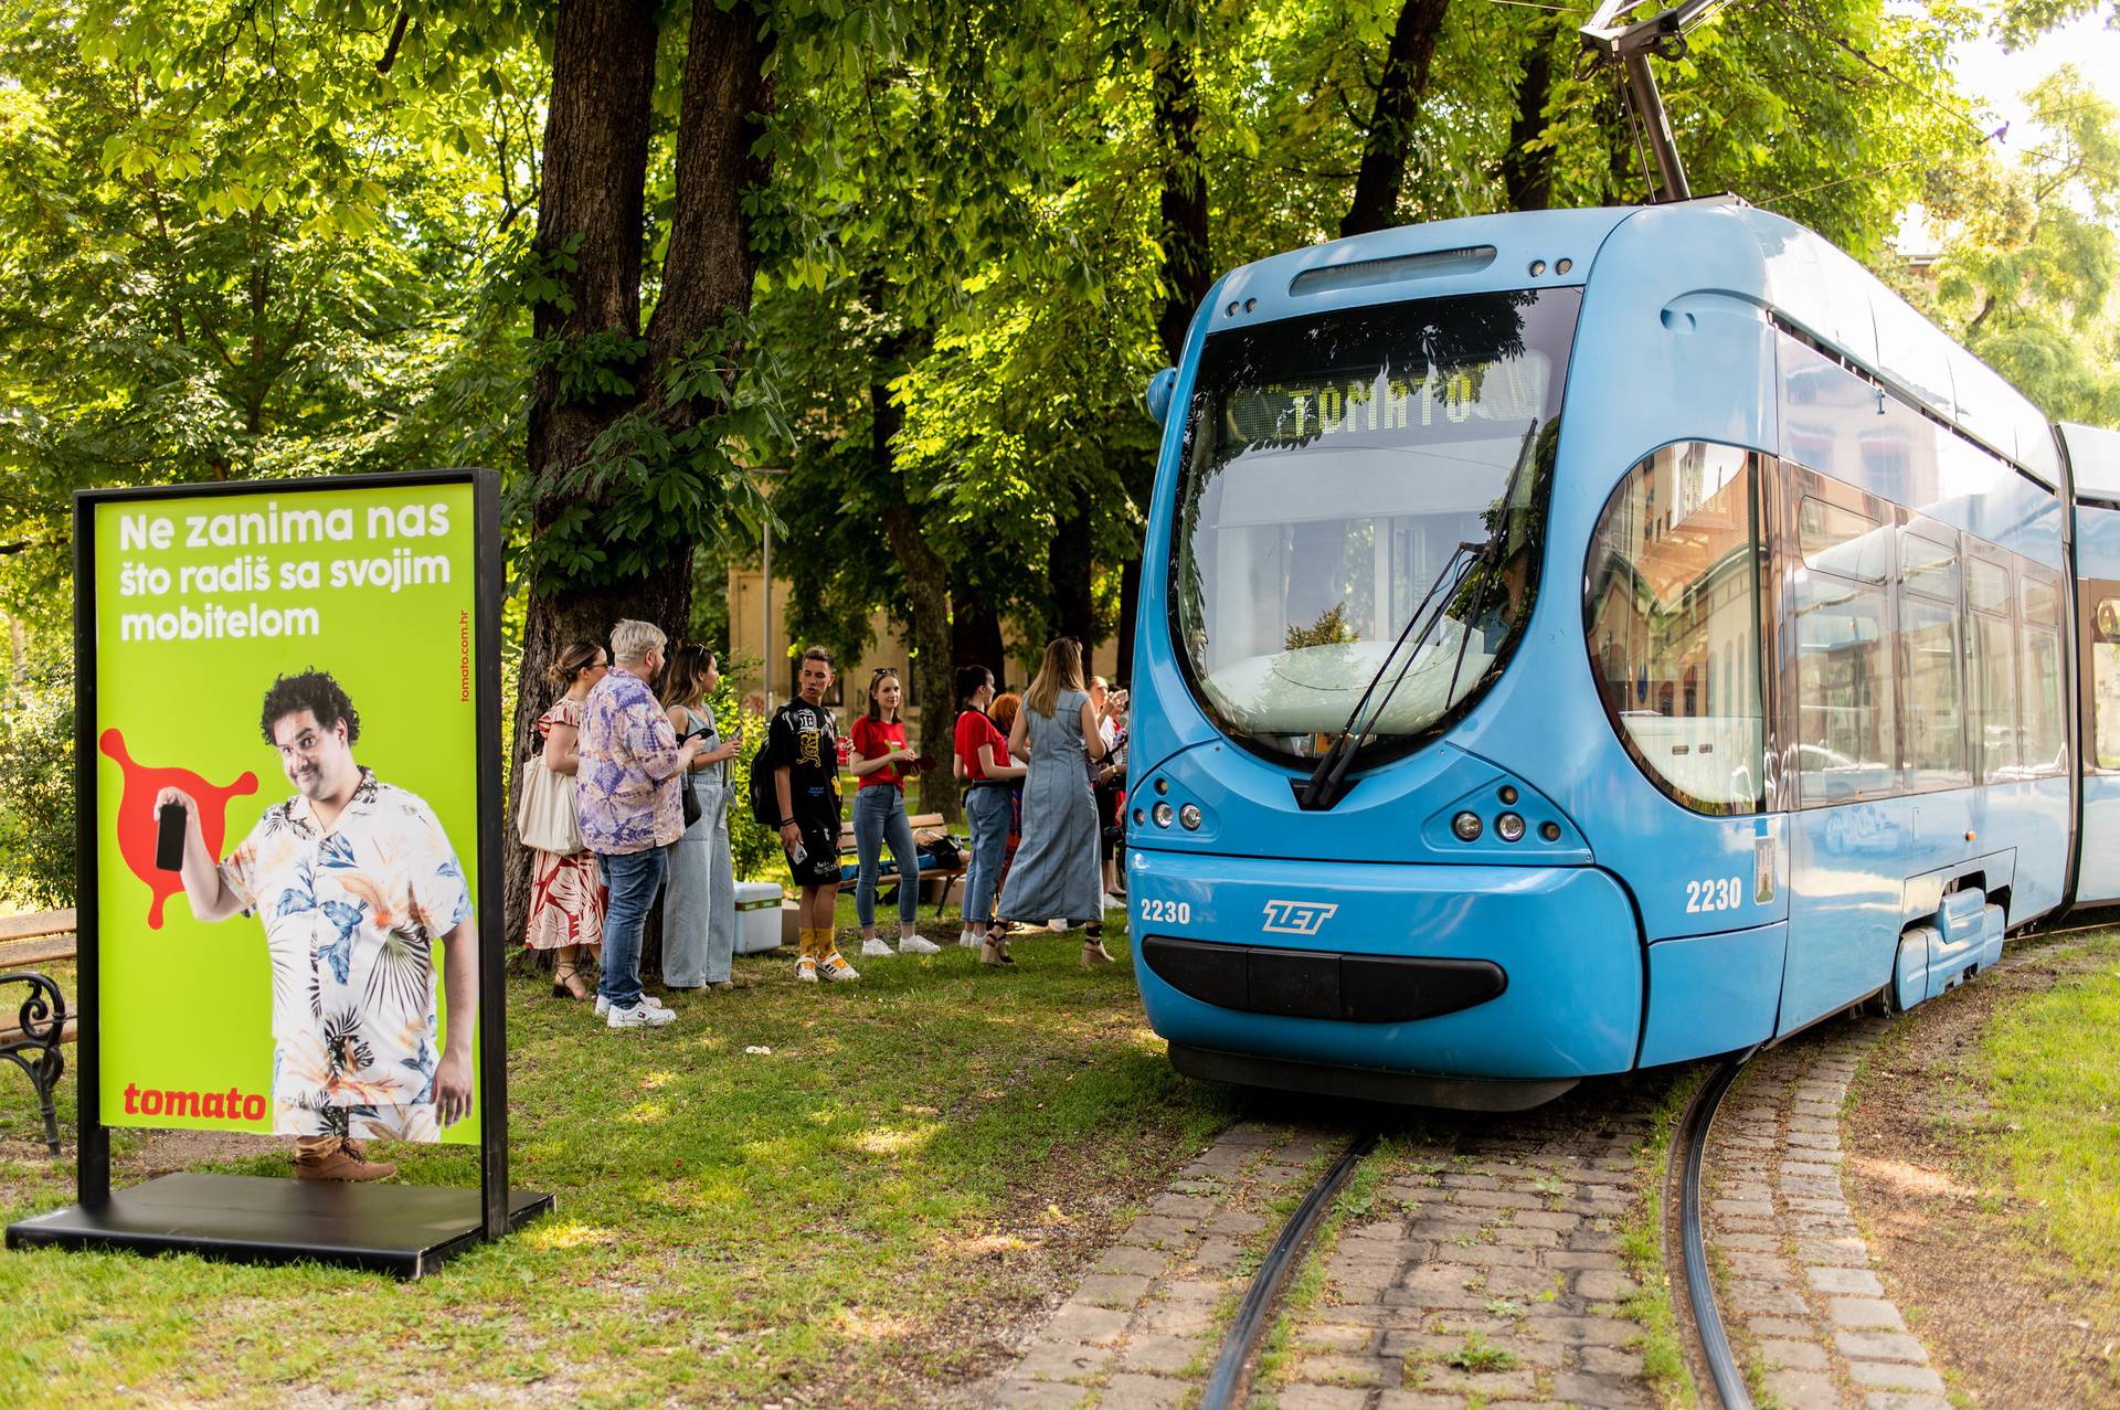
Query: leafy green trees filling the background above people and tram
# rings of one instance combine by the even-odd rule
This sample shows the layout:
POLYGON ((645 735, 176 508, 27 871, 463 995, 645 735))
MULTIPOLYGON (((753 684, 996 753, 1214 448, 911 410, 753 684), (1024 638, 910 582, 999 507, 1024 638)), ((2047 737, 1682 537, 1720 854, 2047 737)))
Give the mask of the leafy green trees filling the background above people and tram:
MULTIPOLYGON (((2082 8, 1734 0, 1660 81, 1696 191, 1819 229, 2048 411, 2116 420, 2116 114, 2056 74, 2052 136, 2003 148, 1950 66, 1953 42, 2082 8), (1933 282, 1895 250, 1914 201, 1944 237, 1933 282)), ((693 602, 719 592, 700 564, 772 515, 795 630, 856 649, 882 611, 918 704, 948 710, 950 666, 999 664, 1001 617, 1126 640, 1141 390, 1215 271, 1643 197, 1579 21, 21 0, 0 19, 0 613, 23 653, 64 655, 81 486, 479 462, 507 481, 526 702, 613 615, 727 621, 693 602)))

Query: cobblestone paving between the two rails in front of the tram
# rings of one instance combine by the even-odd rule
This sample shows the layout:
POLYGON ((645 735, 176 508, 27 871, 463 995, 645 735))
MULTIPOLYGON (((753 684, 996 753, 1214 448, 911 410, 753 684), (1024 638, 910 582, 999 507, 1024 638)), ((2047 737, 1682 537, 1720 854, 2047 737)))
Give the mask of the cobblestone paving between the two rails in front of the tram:
POLYGON ((1401 1139, 1367 1215, 1325 1255, 1276 1368, 1283 1410, 1654 1406, 1620 1226, 1662 1081, 1401 1139))

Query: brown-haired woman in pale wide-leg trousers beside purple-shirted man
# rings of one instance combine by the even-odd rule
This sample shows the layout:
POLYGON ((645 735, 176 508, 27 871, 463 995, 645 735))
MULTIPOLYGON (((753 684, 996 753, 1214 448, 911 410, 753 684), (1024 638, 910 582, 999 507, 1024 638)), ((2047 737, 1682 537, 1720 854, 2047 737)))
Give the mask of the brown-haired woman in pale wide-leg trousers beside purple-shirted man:
POLYGON ((706 698, 721 685, 714 653, 678 647, 664 664, 659 700, 678 742, 700 736, 685 787, 700 799, 700 821, 670 844, 664 880, 664 986, 736 988, 736 869, 729 865, 729 759, 740 740, 723 740, 706 698))

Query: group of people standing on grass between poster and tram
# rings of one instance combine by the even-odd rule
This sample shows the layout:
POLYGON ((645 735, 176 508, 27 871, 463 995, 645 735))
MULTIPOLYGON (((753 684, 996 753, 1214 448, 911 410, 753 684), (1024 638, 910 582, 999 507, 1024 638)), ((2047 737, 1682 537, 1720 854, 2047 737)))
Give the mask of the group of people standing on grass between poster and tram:
MULTIPOLYGON (((572 778, 581 848, 536 850, 526 944, 553 952, 553 997, 583 1001, 611 1028, 649 1028, 674 1014, 640 986, 640 939, 664 901, 666 988, 734 988, 736 878, 729 852, 729 770, 740 729, 723 738, 706 698, 721 683, 706 647, 668 651, 647 621, 619 621, 611 649, 566 647, 553 668, 564 693, 536 721, 538 759, 572 778), (689 797, 687 797, 689 795, 689 797)), ((812 647, 797 695, 774 712, 755 770, 799 888, 795 977, 861 977, 837 948, 840 736, 825 708, 833 662, 812 647)), ((920 937, 918 844, 905 785, 937 768, 907 744, 905 683, 890 668, 869 681, 846 757, 854 776, 854 912, 863 956, 893 954, 876 933, 882 852, 899 874, 899 954, 935 954, 920 937)), ((984 666, 958 672, 952 774, 965 787, 971 861, 958 944, 986 965, 1013 965, 1007 922, 1085 933, 1083 965, 1111 963, 1102 914, 1121 905, 1113 846, 1126 772, 1126 698, 1083 676, 1081 647, 1060 638, 1022 698, 994 698, 984 666), (1007 708, 1013 706, 1013 708, 1007 708)), ((763 804, 761 804, 763 806, 763 804)), ((761 814, 763 821, 763 814, 761 814)))

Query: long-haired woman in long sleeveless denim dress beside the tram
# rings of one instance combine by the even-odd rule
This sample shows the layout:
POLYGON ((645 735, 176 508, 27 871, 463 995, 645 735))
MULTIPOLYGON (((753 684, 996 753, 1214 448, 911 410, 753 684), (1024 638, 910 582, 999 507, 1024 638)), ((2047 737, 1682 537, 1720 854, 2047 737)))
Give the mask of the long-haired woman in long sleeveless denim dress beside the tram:
MULTIPOLYGON (((1001 914, 1030 924, 1081 924, 1088 933, 1083 967, 1109 965, 1100 829, 1090 795, 1090 761, 1105 757, 1105 740, 1096 732, 1096 706, 1081 678, 1081 645, 1073 636, 1045 647, 1045 664, 1024 691, 1024 708, 1009 729, 1009 757, 1026 759, 1030 778, 1024 782, 1024 844, 1009 867, 1001 914)), ((988 950, 994 950, 992 937, 988 950)), ((1005 965, 1007 948, 999 958, 982 958, 1005 965)))

